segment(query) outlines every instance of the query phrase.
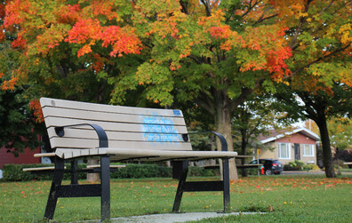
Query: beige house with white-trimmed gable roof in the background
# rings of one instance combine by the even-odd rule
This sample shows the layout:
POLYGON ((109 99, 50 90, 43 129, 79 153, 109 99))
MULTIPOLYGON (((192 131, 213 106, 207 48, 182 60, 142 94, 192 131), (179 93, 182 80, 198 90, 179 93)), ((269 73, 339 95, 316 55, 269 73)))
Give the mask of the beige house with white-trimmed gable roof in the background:
POLYGON ((294 160, 316 164, 316 141, 319 139, 316 133, 306 128, 284 133, 272 131, 268 137, 260 137, 259 141, 266 148, 260 149, 259 157, 276 159, 283 164, 294 160))

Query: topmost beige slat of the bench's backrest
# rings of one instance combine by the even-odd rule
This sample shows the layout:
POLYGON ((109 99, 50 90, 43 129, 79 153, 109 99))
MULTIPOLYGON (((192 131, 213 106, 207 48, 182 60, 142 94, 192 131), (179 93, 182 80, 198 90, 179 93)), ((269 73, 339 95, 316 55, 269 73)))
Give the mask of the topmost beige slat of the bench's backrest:
POLYGON ((161 115, 161 116, 183 116, 182 111, 173 109, 162 108, 132 108, 124 106, 110 106, 96 103, 88 103, 81 101, 70 100, 57 100, 49 98, 41 98, 40 104, 42 108, 55 107, 55 108, 76 108, 81 110, 98 111, 98 112, 116 112, 116 108, 121 114, 134 114, 134 115, 161 115))

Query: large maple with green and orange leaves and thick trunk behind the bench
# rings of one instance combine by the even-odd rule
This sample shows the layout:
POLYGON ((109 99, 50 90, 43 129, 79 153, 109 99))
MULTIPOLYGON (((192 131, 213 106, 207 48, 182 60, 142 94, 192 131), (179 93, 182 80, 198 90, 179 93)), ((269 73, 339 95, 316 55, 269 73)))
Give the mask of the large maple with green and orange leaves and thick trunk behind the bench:
MULTIPOLYGON (((246 1, 137 1, 135 27, 146 43, 146 60, 128 84, 116 88, 120 102, 125 89, 145 87, 148 99, 161 105, 190 100, 214 116, 232 146, 231 119, 236 107, 255 89, 279 81, 290 72, 284 60, 291 50, 284 30, 267 22, 270 4, 246 1), (253 9, 256 9, 254 12, 253 9), (258 13, 263 17, 257 17, 258 13)), ((230 165, 232 179, 236 166, 230 165)))

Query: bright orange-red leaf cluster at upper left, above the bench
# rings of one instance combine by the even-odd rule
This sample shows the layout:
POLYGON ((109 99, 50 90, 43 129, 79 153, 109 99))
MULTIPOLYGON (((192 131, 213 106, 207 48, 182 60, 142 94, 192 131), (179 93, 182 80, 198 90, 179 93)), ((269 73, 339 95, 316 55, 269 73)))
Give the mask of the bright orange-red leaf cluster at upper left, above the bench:
POLYGON ((78 57, 91 53, 96 44, 112 46, 112 57, 122 56, 123 53, 139 54, 141 50, 140 39, 134 28, 108 25, 106 21, 100 20, 101 16, 108 20, 122 20, 112 1, 71 5, 65 1, 36 3, 15 0, 6 4, 5 12, 4 28, 13 30, 18 26, 17 38, 12 42, 12 47, 21 47, 31 54, 46 54, 64 41, 81 45, 78 57), (52 9, 46 9, 48 5, 45 4, 52 9), (52 10, 52 14, 48 14, 47 10, 52 10), (33 29, 38 30, 37 37, 28 42, 28 35, 32 35, 33 29))

